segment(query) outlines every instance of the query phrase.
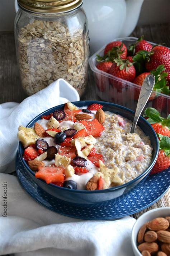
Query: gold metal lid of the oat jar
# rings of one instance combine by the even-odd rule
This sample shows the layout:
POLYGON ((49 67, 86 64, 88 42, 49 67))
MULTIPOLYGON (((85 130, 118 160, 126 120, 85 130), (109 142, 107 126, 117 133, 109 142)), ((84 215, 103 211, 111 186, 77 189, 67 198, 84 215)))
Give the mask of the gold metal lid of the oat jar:
POLYGON ((83 0, 17 0, 23 9, 36 13, 63 13, 79 7, 83 0))

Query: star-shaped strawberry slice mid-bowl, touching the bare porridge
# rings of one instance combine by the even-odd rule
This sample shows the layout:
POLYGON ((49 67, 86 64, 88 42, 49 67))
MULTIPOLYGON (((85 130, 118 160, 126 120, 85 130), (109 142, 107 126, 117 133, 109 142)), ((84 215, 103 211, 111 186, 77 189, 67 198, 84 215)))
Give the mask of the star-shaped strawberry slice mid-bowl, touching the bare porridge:
POLYGON ((80 121, 86 127, 86 136, 93 135, 94 137, 98 137, 101 135, 102 131, 104 131, 104 126, 99 123, 99 121, 95 118, 92 121, 80 121))

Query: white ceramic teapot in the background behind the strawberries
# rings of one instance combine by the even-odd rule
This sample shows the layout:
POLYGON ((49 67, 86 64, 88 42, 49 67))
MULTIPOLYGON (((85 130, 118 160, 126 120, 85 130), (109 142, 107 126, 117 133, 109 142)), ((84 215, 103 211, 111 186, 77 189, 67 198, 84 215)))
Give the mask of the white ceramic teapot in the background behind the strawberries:
POLYGON ((136 27, 143 0, 84 0, 88 18, 90 54, 136 27))

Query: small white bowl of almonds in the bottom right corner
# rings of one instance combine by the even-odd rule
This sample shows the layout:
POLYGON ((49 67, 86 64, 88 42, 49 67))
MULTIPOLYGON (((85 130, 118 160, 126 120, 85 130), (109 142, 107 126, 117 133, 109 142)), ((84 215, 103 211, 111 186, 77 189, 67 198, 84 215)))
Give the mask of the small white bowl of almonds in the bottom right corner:
POLYGON ((135 256, 170 255, 170 207, 145 212, 132 229, 135 256))

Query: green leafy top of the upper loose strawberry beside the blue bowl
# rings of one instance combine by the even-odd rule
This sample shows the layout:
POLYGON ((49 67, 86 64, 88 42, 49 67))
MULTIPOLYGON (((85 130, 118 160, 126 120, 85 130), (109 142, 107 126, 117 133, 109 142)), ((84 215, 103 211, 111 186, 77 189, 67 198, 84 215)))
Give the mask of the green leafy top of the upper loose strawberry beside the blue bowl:
POLYGON ((170 114, 164 118, 155 108, 146 108, 144 116, 149 117, 147 119, 149 123, 161 123, 162 126, 167 126, 170 129, 170 114))

